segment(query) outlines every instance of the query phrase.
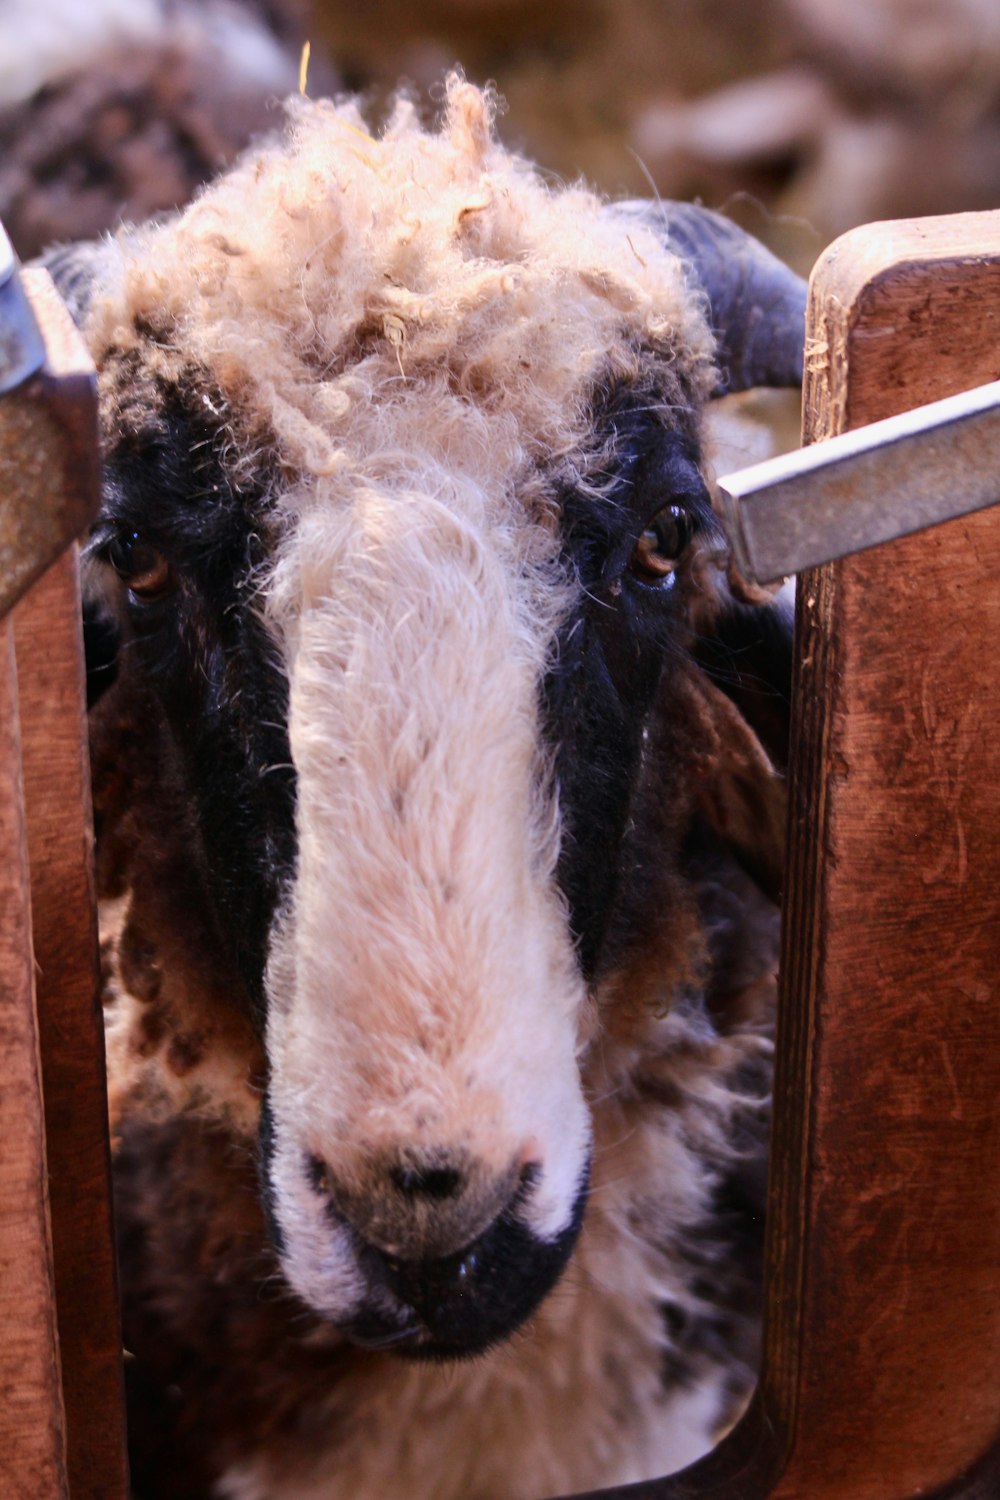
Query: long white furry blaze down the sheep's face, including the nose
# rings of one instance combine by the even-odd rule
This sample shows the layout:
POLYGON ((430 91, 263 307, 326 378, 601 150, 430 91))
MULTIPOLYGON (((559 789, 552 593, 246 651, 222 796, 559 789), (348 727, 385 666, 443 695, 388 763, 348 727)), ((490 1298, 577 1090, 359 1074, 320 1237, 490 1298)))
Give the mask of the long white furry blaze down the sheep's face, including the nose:
MULTIPOLYGON (((274 1215, 292 1286, 369 1338, 414 1324, 370 1251, 454 1257, 465 1310, 498 1256, 531 1257, 525 1232, 568 1252, 589 1149, 538 734, 553 622, 510 478, 463 476, 460 436, 459 412, 442 471, 408 434, 412 468, 352 478, 283 561, 298 861, 267 975, 274 1215)), ((444 1352, 460 1310, 435 1296, 420 1342, 444 1352)))

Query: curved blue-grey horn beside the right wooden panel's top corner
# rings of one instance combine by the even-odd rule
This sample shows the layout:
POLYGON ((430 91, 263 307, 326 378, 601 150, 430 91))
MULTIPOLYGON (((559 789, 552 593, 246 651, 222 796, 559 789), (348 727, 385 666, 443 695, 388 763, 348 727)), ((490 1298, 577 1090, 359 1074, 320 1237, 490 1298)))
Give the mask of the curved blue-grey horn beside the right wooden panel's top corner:
POLYGON ((718 339, 715 394, 801 386, 805 282, 721 213, 690 202, 622 202, 687 261, 709 302, 718 339))

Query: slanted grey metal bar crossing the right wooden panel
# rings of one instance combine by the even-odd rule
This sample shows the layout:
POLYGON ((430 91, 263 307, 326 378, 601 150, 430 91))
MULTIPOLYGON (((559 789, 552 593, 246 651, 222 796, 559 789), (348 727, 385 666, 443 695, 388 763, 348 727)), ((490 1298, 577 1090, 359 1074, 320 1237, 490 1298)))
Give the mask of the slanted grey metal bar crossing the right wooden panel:
POLYGON ((754 464, 718 490, 757 582, 985 510, 1000 501, 1000 381, 754 464))

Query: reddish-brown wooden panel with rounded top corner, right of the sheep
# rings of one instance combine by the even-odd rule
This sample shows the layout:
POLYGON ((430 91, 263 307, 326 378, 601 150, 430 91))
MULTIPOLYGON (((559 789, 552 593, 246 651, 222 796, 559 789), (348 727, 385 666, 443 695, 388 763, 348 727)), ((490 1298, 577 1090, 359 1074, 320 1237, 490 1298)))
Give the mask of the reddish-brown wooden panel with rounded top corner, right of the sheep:
MULTIPOLYGON (((820 260, 807 441, 999 376, 1000 213, 820 260)), ((997 642, 997 507, 799 579, 760 1389, 606 1500, 1000 1494, 997 642)))

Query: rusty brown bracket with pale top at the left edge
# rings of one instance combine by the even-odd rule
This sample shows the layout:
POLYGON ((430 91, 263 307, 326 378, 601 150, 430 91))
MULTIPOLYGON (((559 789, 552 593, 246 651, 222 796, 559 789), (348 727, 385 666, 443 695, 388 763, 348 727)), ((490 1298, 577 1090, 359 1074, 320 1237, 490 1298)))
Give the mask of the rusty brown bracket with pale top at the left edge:
POLYGON ((0 616, 97 512, 97 380, 42 270, 0 230, 0 616))

